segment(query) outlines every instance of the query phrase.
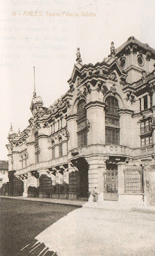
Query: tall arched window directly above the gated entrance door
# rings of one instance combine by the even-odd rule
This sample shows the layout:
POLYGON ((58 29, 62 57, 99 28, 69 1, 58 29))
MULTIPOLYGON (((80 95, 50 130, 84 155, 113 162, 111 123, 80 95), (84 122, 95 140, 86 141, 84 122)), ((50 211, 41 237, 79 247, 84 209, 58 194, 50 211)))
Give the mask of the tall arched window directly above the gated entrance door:
POLYGON ((118 101, 115 96, 106 98, 106 144, 119 145, 120 143, 120 122, 118 114, 118 101))

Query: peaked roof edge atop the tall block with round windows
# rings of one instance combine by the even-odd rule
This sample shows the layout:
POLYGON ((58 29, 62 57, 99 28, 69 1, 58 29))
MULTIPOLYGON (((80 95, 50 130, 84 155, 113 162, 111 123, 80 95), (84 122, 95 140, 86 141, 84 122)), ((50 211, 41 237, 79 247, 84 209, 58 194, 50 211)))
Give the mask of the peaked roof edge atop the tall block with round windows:
POLYGON ((149 44, 143 44, 142 42, 138 41, 135 37, 129 37, 124 44, 122 44, 120 47, 115 49, 115 53, 118 54, 120 51, 122 51, 128 44, 138 44, 138 46, 142 47, 146 51, 151 51, 152 53, 155 54, 155 50, 149 46, 149 44))

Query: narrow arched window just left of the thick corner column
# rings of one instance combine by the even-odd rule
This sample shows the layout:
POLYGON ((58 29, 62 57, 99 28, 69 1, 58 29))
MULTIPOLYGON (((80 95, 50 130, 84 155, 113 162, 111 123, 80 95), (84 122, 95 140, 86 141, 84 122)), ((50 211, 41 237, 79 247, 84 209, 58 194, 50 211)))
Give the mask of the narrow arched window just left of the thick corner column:
POLYGON ((77 105, 77 145, 78 147, 87 144, 86 109, 85 100, 80 100, 77 105))

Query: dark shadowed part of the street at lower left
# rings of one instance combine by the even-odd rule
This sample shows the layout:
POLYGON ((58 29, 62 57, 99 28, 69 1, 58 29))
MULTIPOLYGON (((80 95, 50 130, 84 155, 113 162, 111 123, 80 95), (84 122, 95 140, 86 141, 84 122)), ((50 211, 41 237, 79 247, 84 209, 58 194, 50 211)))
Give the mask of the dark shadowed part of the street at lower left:
MULTIPOLYGON (((1 256, 17 256, 18 251, 45 228, 77 206, 0 198, 1 256)), ((55 256, 55 255, 54 255, 55 256)))

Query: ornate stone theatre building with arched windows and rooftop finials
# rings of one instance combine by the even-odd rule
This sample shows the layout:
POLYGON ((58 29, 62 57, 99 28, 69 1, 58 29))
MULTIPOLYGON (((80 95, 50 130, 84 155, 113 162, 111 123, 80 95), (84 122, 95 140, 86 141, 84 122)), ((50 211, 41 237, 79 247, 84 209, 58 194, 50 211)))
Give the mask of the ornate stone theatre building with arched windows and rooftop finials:
POLYGON ((83 64, 79 48, 69 90, 8 134, 10 196, 116 200, 154 205, 155 50, 129 37, 83 64))

